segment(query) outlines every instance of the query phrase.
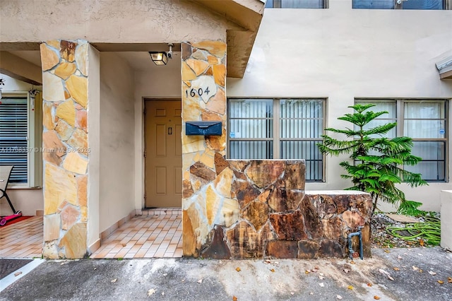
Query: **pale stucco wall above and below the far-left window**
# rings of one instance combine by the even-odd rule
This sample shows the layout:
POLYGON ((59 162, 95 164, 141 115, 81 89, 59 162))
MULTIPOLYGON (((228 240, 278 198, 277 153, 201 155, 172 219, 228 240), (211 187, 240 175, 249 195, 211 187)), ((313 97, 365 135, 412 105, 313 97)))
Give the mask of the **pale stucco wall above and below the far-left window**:
MULTIPOLYGON (((11 78, 5 74, 0 73, 0 78, 3 78, 5 85, 1 86, 3 93, 8 92, 28 92, 33 88, 42 90, 42 86, 33 86, 23 81, 18 81, 15 78, 11 78)), ((1 146, 0 146, 1 147, 1 146)), ((35 216, 37 210, 44 208, 44 199, 42 196, 42 189, 19 189, 11 188, 11 184, 8 185, 8 196, 11 199, 11 203, 16 210, 22 211, 24 216, 35 216)), ((0 200, 0 215, 8 216, 11 213, 11 207, 8 205, 6 199, 0 200)))

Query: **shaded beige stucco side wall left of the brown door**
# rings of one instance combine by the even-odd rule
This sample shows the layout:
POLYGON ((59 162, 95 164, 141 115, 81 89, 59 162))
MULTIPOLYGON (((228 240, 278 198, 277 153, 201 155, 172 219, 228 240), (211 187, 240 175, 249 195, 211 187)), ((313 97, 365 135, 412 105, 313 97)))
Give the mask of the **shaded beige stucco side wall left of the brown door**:
POLYGON ((100 53, 100 232, 133 205, 134 75, 117 54, 100 53))

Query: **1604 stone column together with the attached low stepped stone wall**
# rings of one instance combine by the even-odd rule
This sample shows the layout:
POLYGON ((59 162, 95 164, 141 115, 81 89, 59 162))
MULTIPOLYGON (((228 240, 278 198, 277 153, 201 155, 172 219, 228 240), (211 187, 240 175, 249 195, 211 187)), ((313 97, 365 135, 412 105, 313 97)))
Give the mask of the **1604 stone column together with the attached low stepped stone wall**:
POLYGON ((225 63, 225 43, 182 43, 183 125, 222 122, 222 136, 182 133, 184 256, 343 257, 359 225, 370 256, 369 194, 305 194, 304 160, 225 160, 225 63))

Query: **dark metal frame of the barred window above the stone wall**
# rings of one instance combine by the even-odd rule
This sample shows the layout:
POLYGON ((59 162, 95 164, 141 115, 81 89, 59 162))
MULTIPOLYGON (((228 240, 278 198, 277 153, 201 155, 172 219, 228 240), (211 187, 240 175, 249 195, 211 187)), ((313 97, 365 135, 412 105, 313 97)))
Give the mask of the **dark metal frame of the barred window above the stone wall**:
MULTIPOLYGON (((231 114, 227 114, 227 129, 226 129, 226 143, 227 143, 227 152, 226 152, 226 158, 231 159, 230 154, 230 142, 231 141, 272 141, 273 142, 273 158, 271 159, 242 159, 242 160, 301 160, 301 159, 281 159, 280 158, 280 142, 281 141, 319 141, 321 143, 323 141, 323 138, 321 138, 321 135, 324 134, 324 130, 326 128, 326 104, 327 104, 327 98, 295 98, 295 97, 278 97, 278 98, 239 98, 239 97, 232 97, 227 98, 227 112, 231 112, 230 109, 230 100, 271 100, 273 102, 273 138, 231 138, 230 137, 230 122, 231 122, 231 114), (281 120, 281 114, 280 114, 280 103, 281 100, 318 100, 322 102, 322 121, 320 126, 320 132, 319 132, 319 138, 282 138, 280 137, 280 120, 281 120)), ((235 118, 234 118, 235 119, 235 118)), ((244 117, 246 119, 246 117, 244 117)), ((251 117, 249 118, 251 119, 251 117)), ((302 120, 302 119, 300 119, 302 120)), ((304 159, 304 158, 303 158, 304 159)), ((321 154, 321 179, 312 179, 312 180, 306 180, 306 182, 326 182, 326 155, 321 154)), ((232 160, 241 160, 241 159, 232 159, 232 160)))

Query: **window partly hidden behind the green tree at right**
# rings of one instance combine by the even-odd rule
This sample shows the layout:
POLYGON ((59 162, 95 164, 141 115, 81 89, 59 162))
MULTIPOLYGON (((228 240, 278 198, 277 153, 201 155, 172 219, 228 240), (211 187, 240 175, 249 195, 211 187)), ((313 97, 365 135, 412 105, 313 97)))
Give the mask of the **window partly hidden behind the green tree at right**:
POLYGON ((357 103, 372 103, 374 112, 387 111, 368 124, 374 127, 388 122, 397 126, 388 133, 388 138, 408 136, 413 140, 412 154, 422 158, 415 166, 405 166, 410 172, 420 173, 429 182, 445 182, 447 138, 446 100, 355 100, 357 103))

